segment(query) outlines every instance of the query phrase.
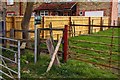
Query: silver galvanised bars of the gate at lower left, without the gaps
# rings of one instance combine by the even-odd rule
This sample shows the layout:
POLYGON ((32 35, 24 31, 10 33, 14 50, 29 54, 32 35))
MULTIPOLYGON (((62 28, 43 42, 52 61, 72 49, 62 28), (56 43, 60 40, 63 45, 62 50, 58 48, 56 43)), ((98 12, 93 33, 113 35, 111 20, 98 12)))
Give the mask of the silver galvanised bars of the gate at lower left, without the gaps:
POLYGON ((20 41, 15 40, 15 39, 6 38, 6 37, 0 37, 0 40, 9 40, 9 41, 17 42, 17 51, 12 50, 10 48, 0 46, 0 48, 2 50, 8 50, 8 51, 14 53, 14 55, 15 55, 15 60, 12 60, 12 59, 10 59, 8 57, 3 56, 3 54, 0 54, 0 59, 1 59, 1 62, 2 62, 2 63, 0 63, 0 66, 2 68, 7 69, 10 75, 8 73, 4 72, 2 69, 0 70, 0 73, 4 74, 5 76, 7 76, 7 77, 9 77, 11 79, 15 79, 16 77, 14 77, 13 74, 12 74, 12 73, 14 73, 14 74, 17 74, 18 75, 17 78, 20 79, 20 41), (5 61, 9 61, 9 62, 12 62, 14 64, 17 64, 18 65, 17 66, 18 71, 15 71, 15 70, 12 70, 11 68, 9 68, 5 61))

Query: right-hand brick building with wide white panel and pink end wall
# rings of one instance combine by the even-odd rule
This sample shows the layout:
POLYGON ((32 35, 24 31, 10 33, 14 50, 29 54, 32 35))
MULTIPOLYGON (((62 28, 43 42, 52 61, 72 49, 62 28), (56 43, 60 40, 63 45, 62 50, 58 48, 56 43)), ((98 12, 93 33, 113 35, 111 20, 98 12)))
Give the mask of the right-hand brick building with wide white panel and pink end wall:
MULTIPOLYGON (((109 2, 80 2, 77 4, 77 16, 109 16, 111 25, 118 19, 118 0, 109 2)), ((117 23, 115 23, 117 25, 117 23)))

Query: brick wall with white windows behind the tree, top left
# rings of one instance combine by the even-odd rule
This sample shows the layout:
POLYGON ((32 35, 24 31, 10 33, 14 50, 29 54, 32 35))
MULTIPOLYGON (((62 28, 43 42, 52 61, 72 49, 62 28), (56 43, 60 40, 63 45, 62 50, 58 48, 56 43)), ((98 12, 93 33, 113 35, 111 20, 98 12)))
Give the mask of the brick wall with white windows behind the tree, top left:
MULTIPOLYGON (((6 8, 7 16, 23 16, 26 8, 25 2, 2 2, 4 7, 6 8)), ((36 8, 40 3, 35 3, 34 8, 36 8)))

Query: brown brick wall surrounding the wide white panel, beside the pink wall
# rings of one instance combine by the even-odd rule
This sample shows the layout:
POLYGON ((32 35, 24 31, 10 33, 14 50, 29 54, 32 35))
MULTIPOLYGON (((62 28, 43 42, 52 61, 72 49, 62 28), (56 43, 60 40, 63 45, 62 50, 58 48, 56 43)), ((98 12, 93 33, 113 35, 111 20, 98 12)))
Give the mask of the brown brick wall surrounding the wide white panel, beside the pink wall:
POLYGON ((76 15, 78 16, 80 11, 84 12, 96 10, 102 10, 104 11, 104 16, 110 16, 111 4, 110 2, 79 2, 77 3, 76 15))

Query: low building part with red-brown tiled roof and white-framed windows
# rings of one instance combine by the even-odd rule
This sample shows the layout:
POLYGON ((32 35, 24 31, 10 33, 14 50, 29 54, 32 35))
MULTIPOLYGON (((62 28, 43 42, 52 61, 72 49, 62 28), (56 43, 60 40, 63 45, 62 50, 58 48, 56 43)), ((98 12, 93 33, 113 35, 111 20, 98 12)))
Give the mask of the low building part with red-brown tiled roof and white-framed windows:
POLYGON ((73 16, 76 14, 76 2, 43 3, 34 12, 40 16, 73 16))

